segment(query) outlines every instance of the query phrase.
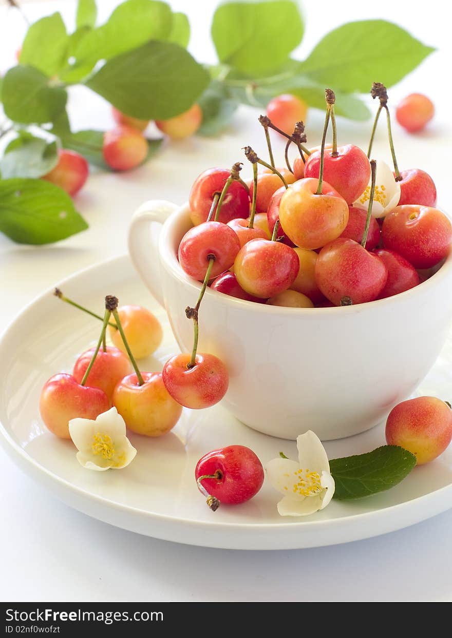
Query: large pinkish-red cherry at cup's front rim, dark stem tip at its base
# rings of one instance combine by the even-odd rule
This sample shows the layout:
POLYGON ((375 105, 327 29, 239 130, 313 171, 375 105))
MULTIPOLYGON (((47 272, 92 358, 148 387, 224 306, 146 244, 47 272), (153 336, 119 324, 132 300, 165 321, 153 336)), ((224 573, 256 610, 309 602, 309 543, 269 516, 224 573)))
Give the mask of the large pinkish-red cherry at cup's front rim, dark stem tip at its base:
POLYGON ((353 304, 377 299, 388 279, 386 265, 352 239, 340 237, 327 244, 315 264, 315 281, 336 306, 343 297, 353 304))

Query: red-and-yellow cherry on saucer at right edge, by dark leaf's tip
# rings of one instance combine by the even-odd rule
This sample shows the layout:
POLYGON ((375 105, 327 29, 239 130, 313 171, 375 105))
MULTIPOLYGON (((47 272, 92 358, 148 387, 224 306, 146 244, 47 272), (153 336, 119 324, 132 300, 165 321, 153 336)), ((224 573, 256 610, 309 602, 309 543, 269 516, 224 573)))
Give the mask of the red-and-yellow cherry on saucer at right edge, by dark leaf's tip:
POLYGON ((402 401, 391 410, 386 421, 388 445, 409 450, 418 465, 430 463, 442 454, 452 440, 450 405, 436 397, 416 397, 402 401))

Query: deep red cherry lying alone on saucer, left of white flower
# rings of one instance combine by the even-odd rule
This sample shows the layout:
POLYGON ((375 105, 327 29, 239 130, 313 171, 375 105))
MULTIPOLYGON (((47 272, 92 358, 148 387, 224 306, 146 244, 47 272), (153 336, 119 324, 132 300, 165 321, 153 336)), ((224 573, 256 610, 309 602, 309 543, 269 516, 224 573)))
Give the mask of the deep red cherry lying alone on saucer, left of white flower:
POLYGON ((200 481, 220 503, 238 505, 253 498, 264 482, 264 468, 253 450, 245 445, 228 445, 212 450, 199 459, 195 479, 221 473, 218 479, 200 481))

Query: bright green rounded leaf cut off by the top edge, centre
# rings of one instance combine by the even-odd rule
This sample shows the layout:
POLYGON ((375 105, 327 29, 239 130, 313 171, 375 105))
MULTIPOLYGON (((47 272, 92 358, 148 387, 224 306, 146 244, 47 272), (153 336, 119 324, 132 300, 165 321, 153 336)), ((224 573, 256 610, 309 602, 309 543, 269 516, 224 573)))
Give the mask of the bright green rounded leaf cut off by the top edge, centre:
POLYGON ((303 38, 298 5, 290 0, 231 2, 215 11, 212 38, 220 62, 247 75, 269 75, 303 38))

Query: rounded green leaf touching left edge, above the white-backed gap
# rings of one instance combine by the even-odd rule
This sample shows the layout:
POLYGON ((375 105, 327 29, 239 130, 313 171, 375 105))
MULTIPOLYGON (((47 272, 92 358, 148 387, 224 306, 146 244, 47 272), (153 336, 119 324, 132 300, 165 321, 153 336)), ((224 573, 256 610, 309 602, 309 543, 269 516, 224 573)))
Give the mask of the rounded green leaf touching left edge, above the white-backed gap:
POLYGON ((67 93, 32 66, 13 66, 3 78, 3 108, 7 117, 22 124, 52 122, 66 107, 67 93))

